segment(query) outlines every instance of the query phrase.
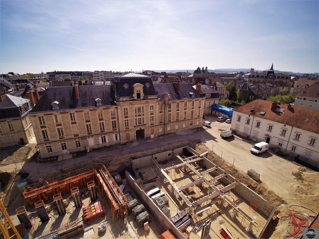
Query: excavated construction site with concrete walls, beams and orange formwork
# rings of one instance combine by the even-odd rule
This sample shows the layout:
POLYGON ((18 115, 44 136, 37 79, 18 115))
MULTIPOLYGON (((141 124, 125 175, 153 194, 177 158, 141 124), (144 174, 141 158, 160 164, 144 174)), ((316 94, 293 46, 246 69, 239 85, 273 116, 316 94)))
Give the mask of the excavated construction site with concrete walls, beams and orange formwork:
POLYGON ((0 238, 269 237, 280 202, 269 202, 268 191, 264 199, 211 160, 207 148, 198 149, 170 145, 122 156, 113 166, 103 158, 19 183, 16 198, 24 204, 8 215, 1 203, 0 238))

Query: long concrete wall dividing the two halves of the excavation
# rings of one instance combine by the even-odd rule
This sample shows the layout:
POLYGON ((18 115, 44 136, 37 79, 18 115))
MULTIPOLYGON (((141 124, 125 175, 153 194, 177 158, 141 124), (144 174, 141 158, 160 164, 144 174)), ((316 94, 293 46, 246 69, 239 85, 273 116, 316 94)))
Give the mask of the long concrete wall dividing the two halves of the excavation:
MULTIPOLYGON (((166 230, 170 229, 170 231, 175 235, 176 238, 185 238, 183 234, 181 234, 181 232, 175 227, 175 225, 169 219, 167 219, 162 211, 154 204, 152 199, 148 197, 145 192, 141 190, 139 185, 135 183, 132 175, 127 171, 125 172, 125 174, 127 185, 129 185, 134 194, 138 197, 141 203, 143 203, 149 215, 154 218, 158 225, 162 224, 162 231, 160 233, 163 233, 166 230)), ((152 227, 152 224, 150 226, 152 227)))

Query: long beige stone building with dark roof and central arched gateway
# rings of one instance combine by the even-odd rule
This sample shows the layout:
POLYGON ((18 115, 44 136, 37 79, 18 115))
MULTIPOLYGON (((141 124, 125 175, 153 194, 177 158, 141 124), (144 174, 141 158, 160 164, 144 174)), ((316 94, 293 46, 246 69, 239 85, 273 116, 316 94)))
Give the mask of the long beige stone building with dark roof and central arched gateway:
POLYGON ((200 127, 203 106, 188 83, 129 73, 112 85, 51 87, 30 119, 44 158, 200 127))

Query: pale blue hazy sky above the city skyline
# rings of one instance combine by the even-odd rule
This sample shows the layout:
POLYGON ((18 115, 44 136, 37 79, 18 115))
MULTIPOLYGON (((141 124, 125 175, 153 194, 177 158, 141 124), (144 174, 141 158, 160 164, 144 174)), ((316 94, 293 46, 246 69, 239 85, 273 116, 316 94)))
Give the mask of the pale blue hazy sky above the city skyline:
POLYGON ((319 0, 0 0, 0 73, 319 72, 319 0))

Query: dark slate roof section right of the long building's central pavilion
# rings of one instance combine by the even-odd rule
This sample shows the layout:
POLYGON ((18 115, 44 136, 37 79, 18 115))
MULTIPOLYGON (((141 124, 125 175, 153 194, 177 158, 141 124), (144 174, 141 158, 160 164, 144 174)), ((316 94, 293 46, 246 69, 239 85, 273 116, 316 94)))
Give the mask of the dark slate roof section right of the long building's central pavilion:
POLYGON ((168 100, 191 99, 192 97, 189 93, 194 93, 194 98, 200 98, 200 94, 192 87, 191 84, 179 83, 179 92, 177 92, 176 85, 176 83, 154 84, 154 88, 161 100, 164 100, 165 92, 170 95, 168 100))

